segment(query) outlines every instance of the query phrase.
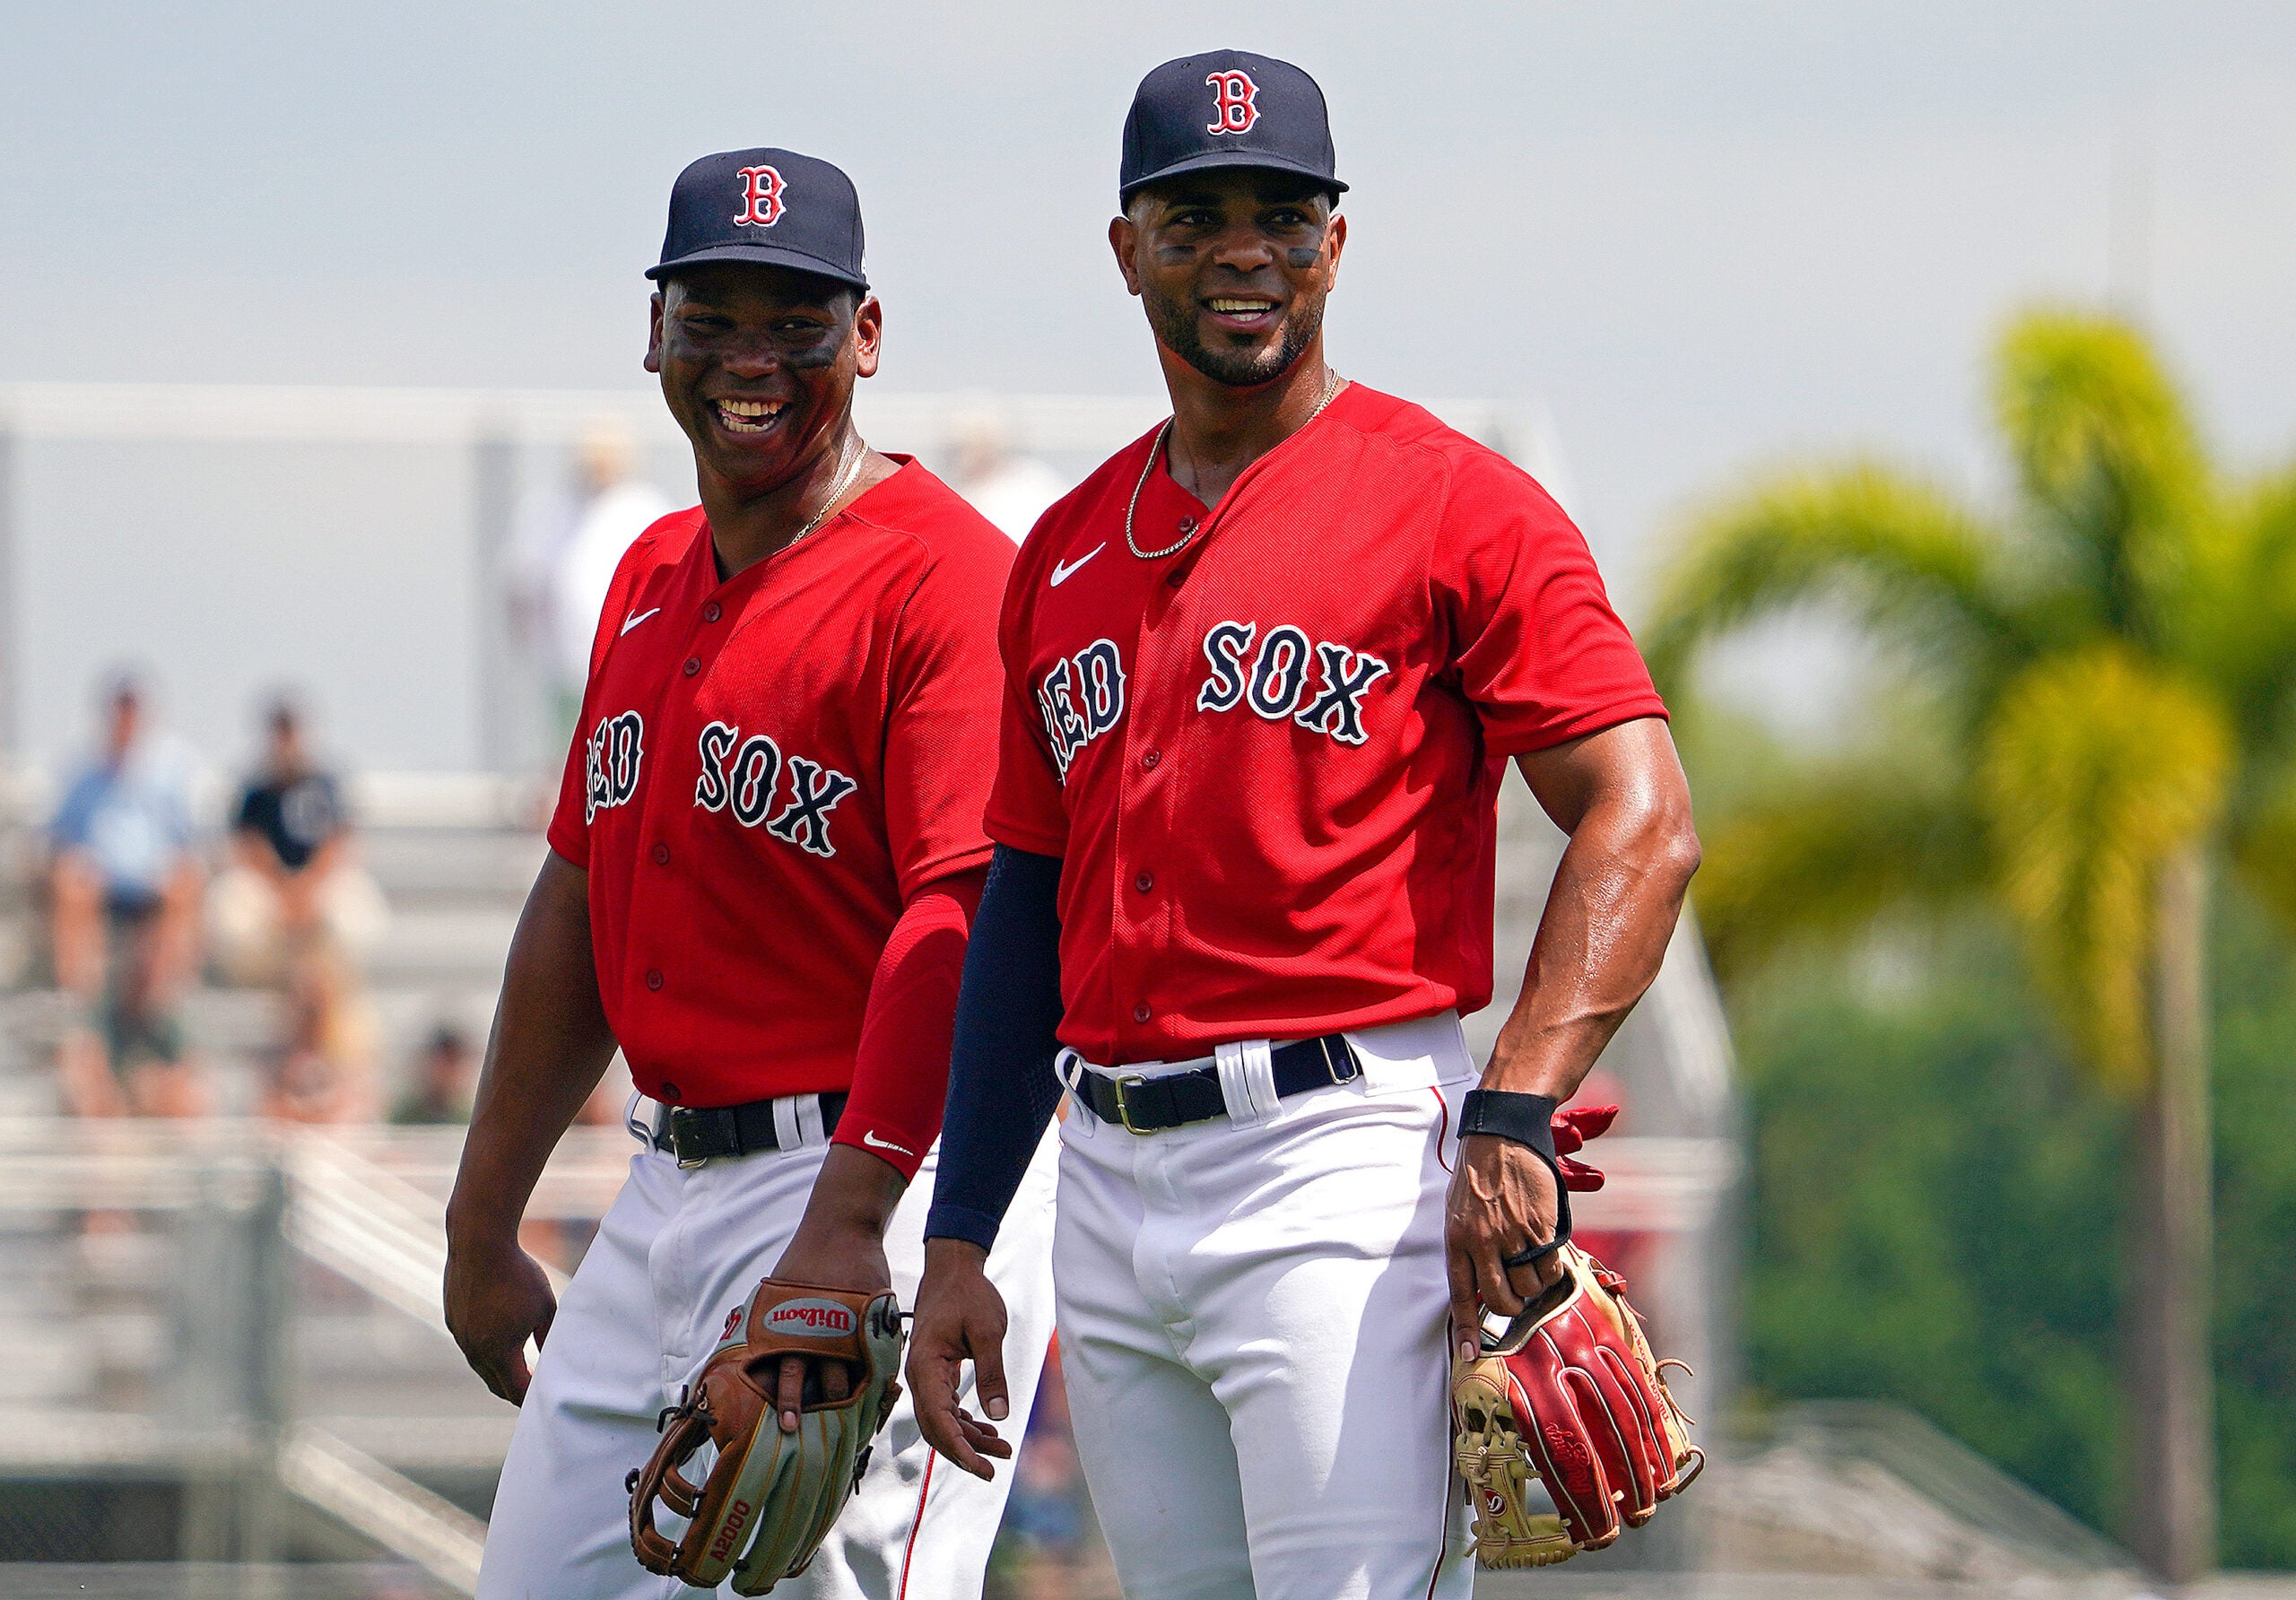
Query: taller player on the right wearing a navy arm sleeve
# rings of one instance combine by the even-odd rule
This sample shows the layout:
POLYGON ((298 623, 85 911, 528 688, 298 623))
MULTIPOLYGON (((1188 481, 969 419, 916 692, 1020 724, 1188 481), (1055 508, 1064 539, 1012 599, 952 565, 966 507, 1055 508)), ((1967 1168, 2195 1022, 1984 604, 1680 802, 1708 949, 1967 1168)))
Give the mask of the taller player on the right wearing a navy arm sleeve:
MULTIPOLYGON (((1554 1276, 1531 1127, 1655 976, 1697 863, 1584 539, 1325 363, 1343 188, 1297 67, 1148 73, 1109 243, 1173 415, 1038 521, 1001 618, 996 856, 907 1370, 925 1437, 992 1471, 983 1263, 1065 1086, 1061 1359, 1134 1600, 1469 1593, 1446 1325, 1472 1350, 1481 1308, 1554 1276), (1479 1074, 1508 760, 1570 842, 1479 1074)), ((1430 328, 1486 292, 1442 253, 1426 278, 1430 328)))

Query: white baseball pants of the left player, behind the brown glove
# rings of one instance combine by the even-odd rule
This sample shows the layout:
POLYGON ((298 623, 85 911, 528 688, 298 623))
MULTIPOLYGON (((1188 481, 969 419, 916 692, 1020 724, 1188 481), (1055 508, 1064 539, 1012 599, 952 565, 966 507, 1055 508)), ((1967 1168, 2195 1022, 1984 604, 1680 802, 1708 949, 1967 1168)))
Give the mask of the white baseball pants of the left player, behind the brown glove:
MULTIPOLYGON (((810 1097, 801 1097, 810 1102, 810 1097)), ((726 1327, 797 1233, 829 1145, 806 1104, 801 1143, 680 1168, 647 1145, 599 1224, 551 1325, 535 1382, 503 1462, 478 1575, 480 1600, 670 1600, 693 1595, 629 1554, 622 1478, 654 1451, 654 1419, 675 1405, 726 1327)), ((886 1228, 900 1304, 916 1304, 925 1269, 925 1207, 934 1152, 886 1228)), ((990 1279, 1006 1297, 1008 1439, 1029 1405, 1052 1338, 1052 1136, 1006 1217, 990 1279)), ((967 1384, 967 1391, 971 1384, 967 1384)), ((976 1414, 978 1403, 964 1400, 976 1414)), ((932 1455, 909 1396, 877 1435, 859 1494, 801 1577, 774 1586, 790 1600, 978 1600, 1013 1469, 994 1483, 932 1455)), ((732 1589, 723 1589, 732 1593, 732 1589)))

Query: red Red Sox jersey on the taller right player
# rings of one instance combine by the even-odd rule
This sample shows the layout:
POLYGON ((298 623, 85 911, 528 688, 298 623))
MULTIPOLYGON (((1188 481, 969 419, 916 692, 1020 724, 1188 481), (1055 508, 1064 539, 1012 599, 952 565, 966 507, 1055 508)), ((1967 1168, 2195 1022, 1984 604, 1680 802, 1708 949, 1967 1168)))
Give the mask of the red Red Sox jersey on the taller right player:
POLYGON ((1123 1065, 1479 1010, 1506 758, 1665 716, 1587 542, 1364 386, 1215 510, 1153 441, 1045 512, 999 631, 987 831, 1063 856, 1061 1040, 1123 1065), (1139 549, 1178 553, 1132 553, 1134 489, 1139 549))

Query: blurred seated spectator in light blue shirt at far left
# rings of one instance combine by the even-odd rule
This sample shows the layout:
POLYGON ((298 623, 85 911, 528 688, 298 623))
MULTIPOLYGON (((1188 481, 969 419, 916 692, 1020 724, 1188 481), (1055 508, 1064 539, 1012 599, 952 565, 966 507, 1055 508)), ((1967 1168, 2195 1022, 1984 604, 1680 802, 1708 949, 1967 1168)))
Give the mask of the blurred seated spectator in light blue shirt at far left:
POLYGON ((133 677, 106 691, 99 751, 48 829, 55 982, 73 1001, 55 1058, 76 1116, 207 1109, 177 1019, 197 960, 191 762, 147 728, 145 698, 133 677))

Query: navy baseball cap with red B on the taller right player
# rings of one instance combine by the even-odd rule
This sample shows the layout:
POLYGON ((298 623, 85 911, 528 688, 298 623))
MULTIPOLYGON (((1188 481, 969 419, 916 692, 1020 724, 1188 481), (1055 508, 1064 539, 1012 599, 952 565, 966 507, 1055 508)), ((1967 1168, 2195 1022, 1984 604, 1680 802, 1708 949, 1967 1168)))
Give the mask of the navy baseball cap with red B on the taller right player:
POLYGON ((1311 177, 1336 200, 1332 119, 1322 90, 1290 62, 1249 51, 1210 51, 1164 62, 1141 78, 1125 117, 1125 163, 1116 197, 1203 168, 1270 168, 1311 177))

